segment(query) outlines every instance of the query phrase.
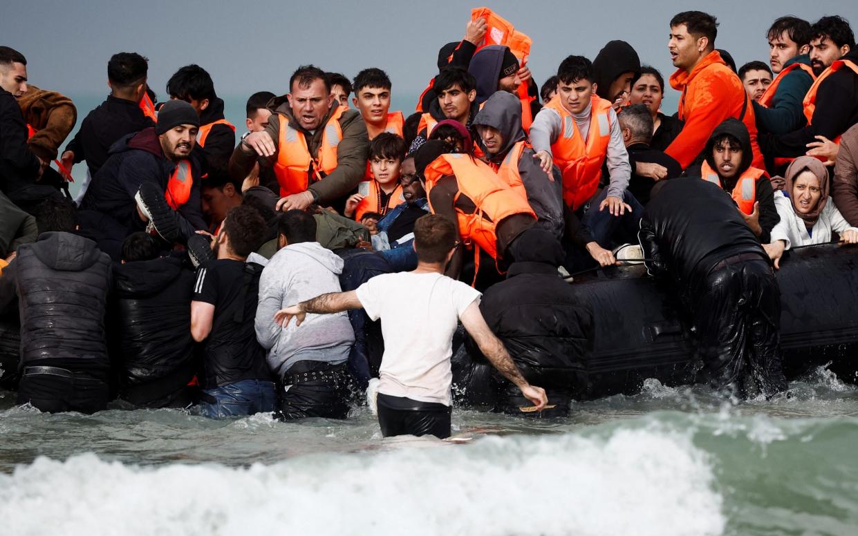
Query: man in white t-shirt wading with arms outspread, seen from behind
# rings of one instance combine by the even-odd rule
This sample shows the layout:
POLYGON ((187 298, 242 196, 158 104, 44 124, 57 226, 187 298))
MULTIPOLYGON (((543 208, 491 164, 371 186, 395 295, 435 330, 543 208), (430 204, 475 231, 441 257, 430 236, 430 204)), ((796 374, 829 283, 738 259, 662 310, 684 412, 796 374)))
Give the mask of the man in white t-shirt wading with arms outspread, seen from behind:
POLYGON ((458 246, 456 226, 438 214, 414 224, 417 268, 382 274, 351 292, 331 292, 277 311, 275 320, 300 325, 310 314, 360 309, 382 320, 384 357, 378 385, 378 424, 384 437, 432 434, 450 437, 450 357, 453 332, 461 320, 492 364, 540 411, 542 388, 530 385, 492 334, 480 313, 480 292, 444 276, 458 246))

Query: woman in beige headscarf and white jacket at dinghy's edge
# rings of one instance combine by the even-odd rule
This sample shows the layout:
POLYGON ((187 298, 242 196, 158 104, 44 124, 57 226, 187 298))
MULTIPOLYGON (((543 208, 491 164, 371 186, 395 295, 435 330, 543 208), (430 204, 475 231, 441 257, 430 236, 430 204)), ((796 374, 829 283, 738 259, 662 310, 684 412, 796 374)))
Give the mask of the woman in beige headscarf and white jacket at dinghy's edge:
POLYGON ((789 165, 786 187, 775 192, 781 221, 771 230, 771 244, 765 246, 775 268, 783 251, 831 242, 831 232, 837 232, 845 244, 858 243, 858 228, 849 226, 828 191, 828 169, 821 161, 800 156, 789 165))

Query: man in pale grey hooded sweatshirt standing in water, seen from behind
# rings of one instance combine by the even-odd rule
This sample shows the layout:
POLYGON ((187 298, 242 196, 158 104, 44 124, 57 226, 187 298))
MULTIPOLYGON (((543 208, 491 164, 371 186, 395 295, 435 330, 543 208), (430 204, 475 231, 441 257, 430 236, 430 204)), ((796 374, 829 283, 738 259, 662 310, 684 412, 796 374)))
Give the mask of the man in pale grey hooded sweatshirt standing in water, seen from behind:
POLYGON ((277 310, 325 292, 341 292, 343 262, 316 242, 316 220, 289 210, 278 223, 279 250, 259 280, 255 327, 279 385, 279 417, 345 419, 348 353, 354 332, 346 313, 310 315, 301 329, 282 328, 277 310))

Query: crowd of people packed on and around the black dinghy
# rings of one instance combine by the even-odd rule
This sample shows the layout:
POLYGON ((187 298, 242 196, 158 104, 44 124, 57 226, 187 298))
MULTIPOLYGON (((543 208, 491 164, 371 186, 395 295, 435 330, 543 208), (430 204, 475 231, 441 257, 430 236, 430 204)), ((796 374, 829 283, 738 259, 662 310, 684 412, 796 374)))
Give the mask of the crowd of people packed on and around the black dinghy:
POLYGON ((62 152, 74 103, 0 46, 0 325, 21 338, 3 381, 42 411, 211 418, 346 419, 366 392, 384 436, 447 437, 461 324, 498 411, 562 415, 594 322, 568 275, 639 244, 705 381, 775 395, 773 268, 858 243, 858 50, 842 17, 783 16, 769 62, 736 69, 717 27, 669 21, 674 114, 629 43, 540 87, 529 37, 475 9, 414 112, 390 110, 382 69, 304 65, 251 95, 238 139, 205 69, 158 102, 120 52, 62 152))

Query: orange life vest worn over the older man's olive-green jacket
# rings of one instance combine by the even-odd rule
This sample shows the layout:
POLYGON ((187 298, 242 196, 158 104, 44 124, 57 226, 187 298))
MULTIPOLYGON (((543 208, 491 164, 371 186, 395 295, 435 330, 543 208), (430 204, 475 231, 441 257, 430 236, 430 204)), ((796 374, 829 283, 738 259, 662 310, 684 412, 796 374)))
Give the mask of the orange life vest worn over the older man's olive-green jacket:
POLYGON ((320 129, 322 133, 322 144, 319 146, 318 155, 313 158, 307 147, 304 133, 289 124, 289 120, 283 114, 277 114, 280 120, 280 137, 277 144, 277 161, 274 165, 274 173, 277 183, 280 184, 280 195, 291 196, 307 190, 311 184, 310 169, 313 170, 313 182, 323 178, 322 173, 329 175, 336 169, 336 148, 342 140, 342 127, 340 117, 347 111, 345 106, 337 106, 334 113, 329 117, 320 129))

